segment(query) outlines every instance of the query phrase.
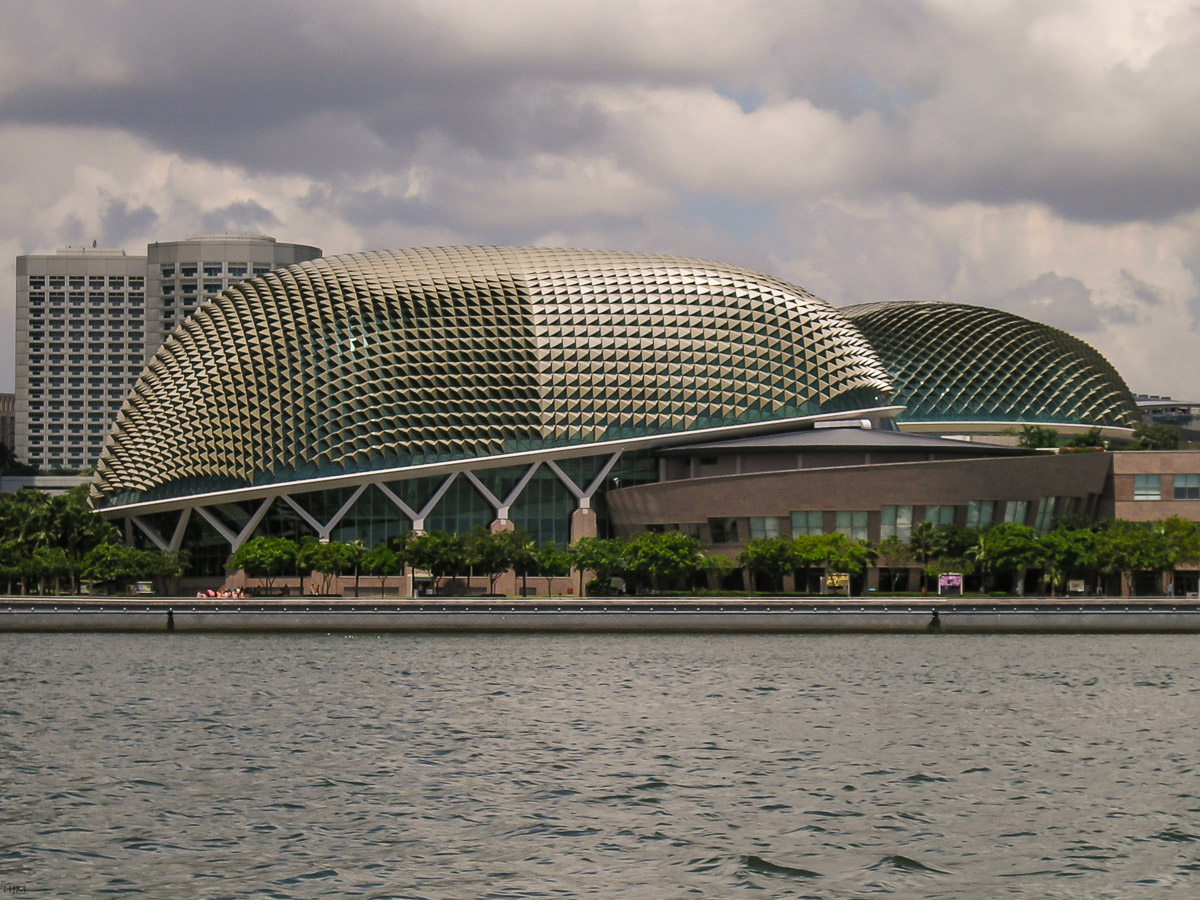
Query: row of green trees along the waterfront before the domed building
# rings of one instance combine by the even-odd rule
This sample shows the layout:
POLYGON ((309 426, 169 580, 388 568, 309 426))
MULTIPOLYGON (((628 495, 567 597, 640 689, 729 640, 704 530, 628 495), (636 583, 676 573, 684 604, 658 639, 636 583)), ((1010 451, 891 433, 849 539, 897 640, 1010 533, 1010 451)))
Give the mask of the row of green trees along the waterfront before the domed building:
MULTIPOLYGON (((512 572, 522 593, 562 588, 610 595, 646 593, 797 593, 826 590, 829 575, 847 576, 850 593, 865 592, 875 568, 880 593, 934 592, 937 576, 959 572, 979 593, 1063 594, 1082 582, 1088 594, 1164 593, 1176 568, 1200 564, 1200 527, 1178 517, 1160 522, 1064 517, 1051 530, 997 523, 961 528, 922 522, 907 540, 888 536, 871 544, 834 534, 772 536, 748 541, 736 557, 708 552, 691 534, 644 532, 630 538, 583 538, 568 547, 536 544, 522 530, 464 535, 406 534, 386 544, 300 542, 260 536, 229 558, 260 593, 300 577, 308 593, 341 593, 353 578, 355 594, 384 593, 388 578, 421 572, 433 593, 512 572), (1152 589, 1139 592, 1141 583, 1152 589), (917 583, 913 583, 917 582, 917 583)), ((0 582, 25 594, 76 593, 80 584, 124 593, 151 581, 158 593, 178 593, 188 572, 186 551, 126 546, 119 530, 88 506, 86 488, 49 496, 24 490, 0 496, 0 582)), ((478 588, 476 588, 478 592, 478 588)))

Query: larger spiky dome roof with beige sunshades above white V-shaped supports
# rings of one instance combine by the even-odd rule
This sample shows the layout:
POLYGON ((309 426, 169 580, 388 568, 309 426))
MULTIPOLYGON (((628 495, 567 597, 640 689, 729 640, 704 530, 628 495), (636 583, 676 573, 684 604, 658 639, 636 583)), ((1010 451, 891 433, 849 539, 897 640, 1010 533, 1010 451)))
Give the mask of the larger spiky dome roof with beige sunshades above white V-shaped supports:
POLYGON ((842 314, 745 269, 642 253, 438 247, 235 284, 155 354, 94 503, 877 407, 842 314))

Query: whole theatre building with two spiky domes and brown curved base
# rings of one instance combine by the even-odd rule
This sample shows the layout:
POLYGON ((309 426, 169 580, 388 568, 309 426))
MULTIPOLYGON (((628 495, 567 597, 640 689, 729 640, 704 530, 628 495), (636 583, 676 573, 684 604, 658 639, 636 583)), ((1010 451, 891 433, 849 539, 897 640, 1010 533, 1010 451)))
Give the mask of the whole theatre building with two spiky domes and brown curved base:
POLYGON ((1122 439, 1135 420, 1096 350, 995 310, 838 310, 641 253, 353 253, 184 320, 128 395, 91 500, 130 540, 190 550, 196 574, 257 535, 371 547, 475 526, 563 545, 682 529, 736 553, 775 534, 1111 515, 1112 454, 1004 433, 1122 439))

